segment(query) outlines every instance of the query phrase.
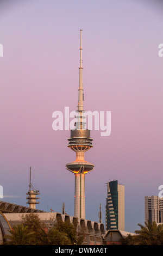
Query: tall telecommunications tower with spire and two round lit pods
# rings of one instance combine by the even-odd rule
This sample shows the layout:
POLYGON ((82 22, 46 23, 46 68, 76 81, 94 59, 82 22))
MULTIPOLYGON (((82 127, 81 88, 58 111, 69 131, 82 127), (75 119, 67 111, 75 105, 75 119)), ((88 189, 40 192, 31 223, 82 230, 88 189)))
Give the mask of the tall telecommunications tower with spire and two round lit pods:
POLYGON ((85 174, 94 169, 92 163, 84 160, 84 153, 92 148, 93 139, 90 137, 90 130, 85 129, 85 118, 83 113, 83 66, 82 66, 82 29, 80 29, 80 66, 79 66, 79 96, 78 96, 78 121, 71 130, 71 138, 68 139, 68 148, 76 152, 76 161, 67 163, 66 169, 75 175, 74 189, 74 217, 85 219, 85 174))

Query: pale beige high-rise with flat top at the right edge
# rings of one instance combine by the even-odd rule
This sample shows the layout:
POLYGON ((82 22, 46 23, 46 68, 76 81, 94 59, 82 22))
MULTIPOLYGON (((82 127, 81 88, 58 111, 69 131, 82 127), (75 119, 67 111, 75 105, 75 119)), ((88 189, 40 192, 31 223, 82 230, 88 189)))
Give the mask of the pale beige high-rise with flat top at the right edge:
POLYGON ((145 222, 163 223, 163 198, 145 197, 145 222))

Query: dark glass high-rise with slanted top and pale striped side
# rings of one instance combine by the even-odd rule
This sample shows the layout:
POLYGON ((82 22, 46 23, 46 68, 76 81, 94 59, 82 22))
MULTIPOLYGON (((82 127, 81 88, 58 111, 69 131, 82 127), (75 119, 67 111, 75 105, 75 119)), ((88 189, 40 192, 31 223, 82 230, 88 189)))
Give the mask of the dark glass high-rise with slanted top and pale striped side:
POLYGON ((124 231, 124 185, 117 180, 107 183, 106 198, 106 230, 119 229, 124 231))

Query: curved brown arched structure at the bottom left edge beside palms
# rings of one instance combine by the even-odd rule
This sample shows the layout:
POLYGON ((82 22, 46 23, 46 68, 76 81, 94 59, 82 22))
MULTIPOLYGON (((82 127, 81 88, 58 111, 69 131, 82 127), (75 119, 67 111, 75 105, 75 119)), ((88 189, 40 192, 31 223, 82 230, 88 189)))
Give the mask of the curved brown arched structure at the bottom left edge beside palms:
POLYGON ((3 242, 7 242, 7 239, 4 239, 4 236, 10 234, 9 230, 11 230, 10 224, 0 211, 0 245, 3 242))

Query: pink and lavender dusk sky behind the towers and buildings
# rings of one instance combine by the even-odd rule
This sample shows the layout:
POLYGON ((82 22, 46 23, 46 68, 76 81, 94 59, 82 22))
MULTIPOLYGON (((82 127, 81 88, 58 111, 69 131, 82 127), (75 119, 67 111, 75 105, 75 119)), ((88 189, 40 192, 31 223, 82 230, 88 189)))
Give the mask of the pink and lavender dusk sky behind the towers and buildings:
POLYGON ((106 182, 125 186, 125 227, 145 222, 145 196, 162 177, 163 4, 156 0, 0 1, 1 200, 26 204, 29 167, 40 190, 37 209, 73 216, 76 159, 70 131, 52 129, 52 113, 76 110, 80 29, 84 108, 111 111, 111 135, 92 131, 85 160, 86 219, 105 223, 106 182))

